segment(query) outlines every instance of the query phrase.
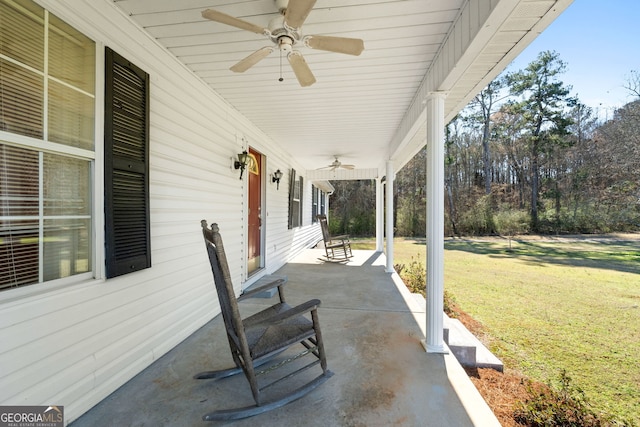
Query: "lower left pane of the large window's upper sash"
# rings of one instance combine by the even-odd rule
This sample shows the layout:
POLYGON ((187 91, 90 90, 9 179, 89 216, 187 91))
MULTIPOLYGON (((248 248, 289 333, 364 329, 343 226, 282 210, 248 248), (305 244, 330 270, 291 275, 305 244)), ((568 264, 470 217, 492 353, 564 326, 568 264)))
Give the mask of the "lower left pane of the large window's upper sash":
POLYGON ((0 59, 0 130, 42 139, 43 77, 0 59))

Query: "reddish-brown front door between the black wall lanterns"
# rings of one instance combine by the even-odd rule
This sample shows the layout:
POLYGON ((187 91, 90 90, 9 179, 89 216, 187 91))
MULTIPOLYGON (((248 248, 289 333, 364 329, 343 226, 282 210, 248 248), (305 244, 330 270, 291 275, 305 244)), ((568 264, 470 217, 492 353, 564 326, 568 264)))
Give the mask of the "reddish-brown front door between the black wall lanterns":
POLYGON ((247 269, 249 274, 261 266, 262 247, 262 155, 249 148, 249 224, 247 269))

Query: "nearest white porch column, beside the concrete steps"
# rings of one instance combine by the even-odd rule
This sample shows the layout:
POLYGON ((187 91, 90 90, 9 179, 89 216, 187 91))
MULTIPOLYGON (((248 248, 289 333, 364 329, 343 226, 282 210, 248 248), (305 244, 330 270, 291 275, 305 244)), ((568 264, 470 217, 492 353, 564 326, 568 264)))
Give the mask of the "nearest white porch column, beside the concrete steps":
POLYGON ((444 93, 427 98, 427 340, 428 353, 444 345, 444 93))

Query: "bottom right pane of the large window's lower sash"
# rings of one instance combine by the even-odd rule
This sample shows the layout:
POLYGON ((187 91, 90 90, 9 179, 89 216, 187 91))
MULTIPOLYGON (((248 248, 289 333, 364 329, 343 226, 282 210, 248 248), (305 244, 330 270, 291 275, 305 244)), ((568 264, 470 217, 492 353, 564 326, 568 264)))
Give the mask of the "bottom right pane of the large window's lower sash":
POLYGON ((91 268, 89 219, 44 221, 44 280, 54 280, 91 268))

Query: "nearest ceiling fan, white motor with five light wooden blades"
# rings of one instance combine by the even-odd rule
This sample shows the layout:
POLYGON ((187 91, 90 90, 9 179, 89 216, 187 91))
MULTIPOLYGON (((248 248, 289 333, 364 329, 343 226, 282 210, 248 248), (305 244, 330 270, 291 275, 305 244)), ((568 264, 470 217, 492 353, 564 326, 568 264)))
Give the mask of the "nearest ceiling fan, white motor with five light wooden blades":
MULTIPOLYGON (((262 28, 240 18, 222 13, 214 9, 207 9, 202 12, 202 16, 221 24, 230 25, 242 30, 252 31, 269 38, 274 46, 265 46, 251 55, 240 60, 230 68, 236 73, 243 73, 266 58, 274 50, 279 49, 281 55, 284 54, 289 60, 300 86, 311 86, 316 82, 311 69, 304 60, 300 52, 294 50, 297 45, 304 45, 311 49, 324 50, 328 52, 345 53, 347 55, 360 55, 364 50, 364 42, 361 39, 347 37, 332 37, 309 35, 303 36, 301 32, 302 24, 313 9, 316 0, 274 0, 280 16, 274 18, 269 23, 269 28, 262 28)), ((282 81, 282 77, 279 79, 282 81)))

